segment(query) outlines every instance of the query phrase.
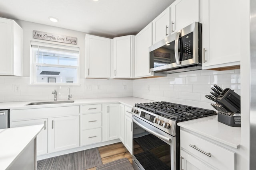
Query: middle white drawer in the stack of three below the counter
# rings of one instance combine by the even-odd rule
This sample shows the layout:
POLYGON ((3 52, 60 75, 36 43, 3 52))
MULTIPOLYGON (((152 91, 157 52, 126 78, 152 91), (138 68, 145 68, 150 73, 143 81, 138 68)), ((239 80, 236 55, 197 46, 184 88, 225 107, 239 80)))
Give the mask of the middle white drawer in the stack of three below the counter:
POLYGON ((101 113, 82 115, 82 129, 101 127, 101 113))

